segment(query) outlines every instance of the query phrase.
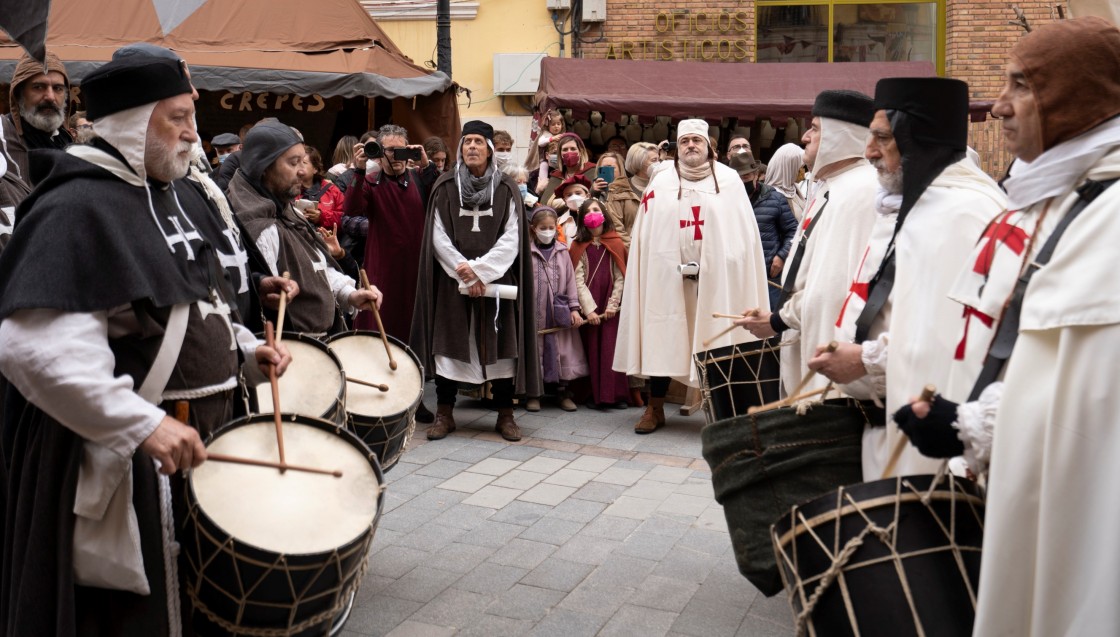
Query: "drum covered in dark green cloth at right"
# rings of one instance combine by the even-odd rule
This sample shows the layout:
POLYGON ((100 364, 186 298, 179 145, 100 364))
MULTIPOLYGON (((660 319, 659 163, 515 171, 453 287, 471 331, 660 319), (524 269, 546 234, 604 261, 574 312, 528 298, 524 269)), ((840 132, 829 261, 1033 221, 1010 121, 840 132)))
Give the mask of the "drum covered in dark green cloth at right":
POLYGON ((724 506, 739 572, 766 596, 782 590, 769 527, 790 507, 859 483, 864 412, 813 405, 713 422, 701 432, 716 500, 724 506))

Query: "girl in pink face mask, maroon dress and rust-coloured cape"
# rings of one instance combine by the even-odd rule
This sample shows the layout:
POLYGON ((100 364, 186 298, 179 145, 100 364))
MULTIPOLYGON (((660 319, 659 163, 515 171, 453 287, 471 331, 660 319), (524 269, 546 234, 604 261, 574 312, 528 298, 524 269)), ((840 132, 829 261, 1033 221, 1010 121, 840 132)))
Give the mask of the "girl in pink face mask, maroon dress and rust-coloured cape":
POLYGON ((618 340, 618 308, 626 277, 626 247, 598 199, 577 212, 578 234, 569 255, 576 265, 579 306, 587 317, 580 330, 591 376, 591 397, 599 409, 626 409, 629 383, 612 368, 618 340))

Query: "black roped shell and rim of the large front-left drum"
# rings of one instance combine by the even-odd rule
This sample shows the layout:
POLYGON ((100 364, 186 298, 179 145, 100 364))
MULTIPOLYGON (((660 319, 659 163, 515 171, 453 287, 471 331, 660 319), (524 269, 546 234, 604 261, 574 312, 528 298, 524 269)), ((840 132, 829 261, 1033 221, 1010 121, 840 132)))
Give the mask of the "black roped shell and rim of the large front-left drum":
MULTIPOLYGON (((377 483, 385 484, 376 456, 352 432, 319 419, 295 414, 283 414, 282 418, 286 422, 316 427, 346 439, 368 458, 377 483)), ((207 443, 231 429, 271 423, 272 420, 272 414, 237 419, 216 431, 207 443)), ((277 553, 232 537, 198 505, 190 480, 186 481, 185 488, 189 510, 179 525, 183 537, 180 564, 186 572, 189 597, 245 630, 239 633, 234 629, 234 635, 253 634, 260 629, 288 629, 320 613, 325 615, 321 621, 291 634, 326 635, 340 608, 361 584, 384 498, 380 494, 371 494, 371 497, 377 498, 376 514, 370 528, 358 537, 332 551, 292 554, 277 553), (237 596, 245 599, 244 610, 235 599, 237 596), (338 610, 330 612, 332 609, 338 610)), ((227 633, 197 608, 194 622, 199 634, 227 633)))

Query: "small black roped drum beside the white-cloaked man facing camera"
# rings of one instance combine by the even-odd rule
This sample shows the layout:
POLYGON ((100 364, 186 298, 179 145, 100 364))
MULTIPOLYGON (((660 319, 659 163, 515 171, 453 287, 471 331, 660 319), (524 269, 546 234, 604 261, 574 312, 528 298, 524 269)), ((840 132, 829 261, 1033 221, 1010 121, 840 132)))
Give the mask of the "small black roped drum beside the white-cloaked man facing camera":
POLYGON ((782 397, 778 339, 753 340, 693 356, 704 415, 716 422, 782 397))

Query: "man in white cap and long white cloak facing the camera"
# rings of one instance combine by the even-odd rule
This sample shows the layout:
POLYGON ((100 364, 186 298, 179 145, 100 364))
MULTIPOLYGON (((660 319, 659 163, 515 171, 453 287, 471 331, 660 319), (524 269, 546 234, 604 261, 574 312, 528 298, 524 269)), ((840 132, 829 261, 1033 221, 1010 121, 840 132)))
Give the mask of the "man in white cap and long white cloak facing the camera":
POLYGON ((755 340, 713 312, 769 310, 758 225, 739 175, 716 161, 703 120, 676 125, 674 170, 659 171, 631 231, 614 368, 651 378, 650 404, 634 431, 665 423, 675 378, 699 385, 692 356, 755 340))

